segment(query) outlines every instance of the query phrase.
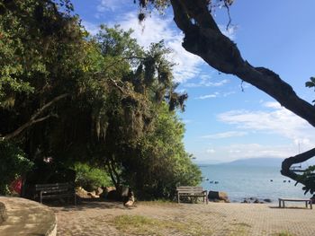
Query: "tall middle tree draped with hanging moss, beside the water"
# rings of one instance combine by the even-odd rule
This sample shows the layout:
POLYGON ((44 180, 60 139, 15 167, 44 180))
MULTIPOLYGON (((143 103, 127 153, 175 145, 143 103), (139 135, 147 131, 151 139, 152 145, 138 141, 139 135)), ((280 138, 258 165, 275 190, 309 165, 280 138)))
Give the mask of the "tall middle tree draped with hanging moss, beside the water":
MULTIPOLYGON (((140 197, 170 197, 180 179, 183 183, 189 182, 184 180, 184 174, 180 175, 176 168, 181 166, 183 173, 189 173, 189 183, 196 184, 201 175, 187 158, 184 145, 180 142, 178 144, 178 139, 183 138, 183 132, 175 131, 174 124, 165 127, 170 132, 168 134, 175 132, 177 135, 174 139, 168 137, 168 141, 173 143, 173 154, 167 155, 163 146, 153 152, 153 147, 157 148, 157 144, 168 144, 167 135, 158 135, 157 129, 161 127, 157 126, 157 120, 160 116, 166 116, 165 112, 173 116, 174 109, 184 109, 187 95, 175 92, 176 84, 172 82, 171 73, 173 65, 166 60, 169 50, 163 41, 152 44, 148 51, 144 51, 135 44, 134 39, 130 39, 130 33, 121 31, 118 27, 109 29, 103 26, 95 38, 103 58, 110 61, 109 65, 112 62, 115 65, 110 68, 101 67, 97 73, 104 82, 113 85, 106 89, 107 107, 102 118, 106 122, 101 122, 103 124, 99 126, 103 135, 99 142, 94 142, 97 144, 96 149, 102 150, 97 160, 105 164, 116 188, 127 184, 140 197), (130 66, 135 69, 130 70, 130 66), (109 73, 109 69, 117 73, 109 73), (151 149, 148 149, 148 144, 151 144, 151 149), (175 156, 178 161, 175 161, 175 156), (170 160, 175 162, 174 165, 170 164, 170 160), (165 178, 153 178, 153 172, 167 173, 174 178, 168 181, 165 178)), ((171 120, 178 123, 175 118, 171 120)))

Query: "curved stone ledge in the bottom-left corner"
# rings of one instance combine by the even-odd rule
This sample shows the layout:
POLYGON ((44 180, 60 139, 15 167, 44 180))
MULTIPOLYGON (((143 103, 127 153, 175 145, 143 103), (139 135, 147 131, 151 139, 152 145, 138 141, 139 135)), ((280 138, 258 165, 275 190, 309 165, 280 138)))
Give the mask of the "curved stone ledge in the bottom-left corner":
POLYGON ((1 236, 56 235, 56 216, 46 205, 21 197, 0 197, 7 219, 0 224, 1 236))

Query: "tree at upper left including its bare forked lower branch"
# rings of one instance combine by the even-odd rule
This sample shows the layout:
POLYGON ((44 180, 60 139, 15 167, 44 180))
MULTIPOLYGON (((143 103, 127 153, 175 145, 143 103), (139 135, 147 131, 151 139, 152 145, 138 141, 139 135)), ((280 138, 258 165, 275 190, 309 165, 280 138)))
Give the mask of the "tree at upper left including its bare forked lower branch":
POLYGON ((0 4, 1 121, 10 117, 0 139, 12 139, 56 118, 52 109, 74 92, 84 41, 71 9, 67 0, 0 4))

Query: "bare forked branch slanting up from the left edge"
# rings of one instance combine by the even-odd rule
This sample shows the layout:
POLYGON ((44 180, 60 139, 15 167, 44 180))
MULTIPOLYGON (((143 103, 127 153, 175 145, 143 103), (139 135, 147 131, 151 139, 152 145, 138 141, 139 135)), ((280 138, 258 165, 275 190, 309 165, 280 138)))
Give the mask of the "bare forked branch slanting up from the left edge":
POLYGON ((38 109, 32 116, 31 118, 24 123, 21 127, 18 127, 17 129, 15 129, 13 132, 11 132, 8 135, 4 135, 3 137, 0 137, 0 139, 2 140, 9 140, 14 138, 17 135, 20 135, 26 128, 31 127, 32 125, 39 123, 45 119, 51 118, 51 117, 57 117, 56 114, 49 114, 45 117, 39 118, 40 115, 46 111, 47 109, 49 109, 49 107, 51 107, 53 104, 55 104, 57 101, 62 100, 63 98, 67 97, 69 94, 68 93, 64 93, 59 95, 58 97, 54 98, 52 101, 49 101, 48 103, 46 103, 44 106, 42 106, 40 109, 38 109))

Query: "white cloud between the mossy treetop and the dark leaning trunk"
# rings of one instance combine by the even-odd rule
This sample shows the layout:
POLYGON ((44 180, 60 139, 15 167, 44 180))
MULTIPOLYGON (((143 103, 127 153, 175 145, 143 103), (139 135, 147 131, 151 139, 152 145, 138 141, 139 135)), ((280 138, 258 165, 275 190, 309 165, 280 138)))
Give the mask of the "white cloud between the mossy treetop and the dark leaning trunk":
POLYGON ((144 22, 139 23, 137 13, 131 12, 120 15, 119 21, 110 25, 113 24, 120 24, 123 30, 132 29, 132 37, 144 48, 164 39, 166 47, 173 50, 170 60, 175 63, 173 73, 176 82, 182 83, 201 73, 202 59, 184 50, 183 34, 172 28, 172 19, 152 13, 144 22))

